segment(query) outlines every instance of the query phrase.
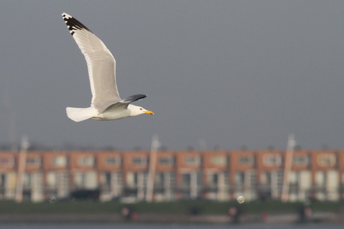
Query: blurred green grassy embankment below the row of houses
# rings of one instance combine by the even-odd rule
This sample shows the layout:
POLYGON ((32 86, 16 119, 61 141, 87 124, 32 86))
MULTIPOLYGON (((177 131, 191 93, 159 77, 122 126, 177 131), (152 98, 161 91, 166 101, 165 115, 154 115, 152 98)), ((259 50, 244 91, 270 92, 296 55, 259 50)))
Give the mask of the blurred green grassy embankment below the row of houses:
MULTIPOLYGON (((310 204, 313 212, 340 212, 344 210, 344 202, 313 202, 310 204)), ((236 206, 242 213, 247 214, 282 214, 297 213, 302 203, 281 203, 278 201, 264 202, 215 202, 215 201, 178 201, 164 203, 135 203, 119 202, 43 202, 43 203, 14 203, 0 202, 0 214, 73 214, 73 213, 113 213, 119 214, 123 207, 130 207, 137 213, 152 214, 211 214, 225 215, 228 208, 236 206)))

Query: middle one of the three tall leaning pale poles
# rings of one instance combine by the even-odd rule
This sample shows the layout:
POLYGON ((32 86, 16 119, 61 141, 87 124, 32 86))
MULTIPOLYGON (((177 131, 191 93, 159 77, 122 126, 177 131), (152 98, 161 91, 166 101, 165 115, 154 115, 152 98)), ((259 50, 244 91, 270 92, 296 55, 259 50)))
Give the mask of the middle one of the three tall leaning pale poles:
POLYGON ((151 145, 151 151, 150 151, 150 157, 149 157, 146 202, 152 202, 153 200, 155 168, 157 164, 157 152, 158 152, 159 147, 160 147, 160 142, 159 142, 158 135, 154 135, 152 137, 152 145, 151 145))

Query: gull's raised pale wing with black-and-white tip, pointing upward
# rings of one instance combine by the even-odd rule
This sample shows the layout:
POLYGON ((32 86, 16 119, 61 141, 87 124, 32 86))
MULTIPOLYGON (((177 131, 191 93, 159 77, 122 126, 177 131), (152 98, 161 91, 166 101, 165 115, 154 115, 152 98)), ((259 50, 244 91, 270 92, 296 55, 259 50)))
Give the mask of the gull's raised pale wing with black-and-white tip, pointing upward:
POLYGON ((85 56, 92 91, 91 106, 101 113, 121 100, 116 86, 115 58, 86 26, 66 13, 62 14, 62 18, 85 56))

